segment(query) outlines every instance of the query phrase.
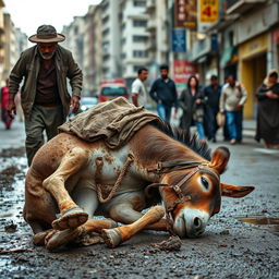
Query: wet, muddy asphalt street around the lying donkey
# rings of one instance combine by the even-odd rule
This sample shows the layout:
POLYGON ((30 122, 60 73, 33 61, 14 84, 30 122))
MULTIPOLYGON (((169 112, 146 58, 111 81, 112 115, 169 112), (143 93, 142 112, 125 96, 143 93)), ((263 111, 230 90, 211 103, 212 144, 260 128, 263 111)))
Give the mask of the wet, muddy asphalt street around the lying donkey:
POLYGON ((251 136, 230 146, 219 135, 210 147, 219 145, 231 151, 221 182, 256 189, 243 198, 225 197, 201 238, 182 240, 180 251, 168 252, 151 244, 169 235, 148 231, 114 250, 97 244, 50 253, 31 243, 22 218, 23 124, 4 131, 1 123, 0 253, 10 253, 0 254, 0 278, 279 278, 279 151, 262 148, 251 136))

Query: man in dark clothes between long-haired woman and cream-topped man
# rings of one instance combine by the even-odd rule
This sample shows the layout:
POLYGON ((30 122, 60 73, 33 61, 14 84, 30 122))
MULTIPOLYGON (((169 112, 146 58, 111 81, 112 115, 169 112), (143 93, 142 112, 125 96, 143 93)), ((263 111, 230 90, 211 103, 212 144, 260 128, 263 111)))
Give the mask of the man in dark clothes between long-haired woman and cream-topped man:
POLYGON ((217 113, 219 112, 221 86, 218 83, 217 75, 211 75, 210 84, 204 88, 205 104, 205 118, 204 126, 208 141, 216 143, 216 132, 218 130, 217 113))

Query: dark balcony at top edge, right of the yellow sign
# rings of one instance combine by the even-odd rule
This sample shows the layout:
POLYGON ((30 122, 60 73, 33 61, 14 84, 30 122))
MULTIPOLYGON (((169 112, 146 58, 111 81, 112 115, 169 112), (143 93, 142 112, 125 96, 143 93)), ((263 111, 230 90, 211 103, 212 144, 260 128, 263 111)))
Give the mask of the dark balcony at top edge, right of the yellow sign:
POLYGON ((265 3, 266 0, 227 0, 227 14, 232 13, 245 13, 250 9, 260 4, 265 3))

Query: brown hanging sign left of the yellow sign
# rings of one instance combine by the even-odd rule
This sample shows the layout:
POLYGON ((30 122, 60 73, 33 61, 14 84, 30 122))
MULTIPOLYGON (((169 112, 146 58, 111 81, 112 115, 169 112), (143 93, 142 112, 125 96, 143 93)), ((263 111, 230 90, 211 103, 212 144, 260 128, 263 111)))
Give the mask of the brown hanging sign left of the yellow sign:
POLYGON ((175 0, 174 27, 196 28, 196 0, 175 0))

